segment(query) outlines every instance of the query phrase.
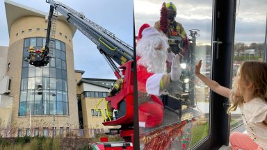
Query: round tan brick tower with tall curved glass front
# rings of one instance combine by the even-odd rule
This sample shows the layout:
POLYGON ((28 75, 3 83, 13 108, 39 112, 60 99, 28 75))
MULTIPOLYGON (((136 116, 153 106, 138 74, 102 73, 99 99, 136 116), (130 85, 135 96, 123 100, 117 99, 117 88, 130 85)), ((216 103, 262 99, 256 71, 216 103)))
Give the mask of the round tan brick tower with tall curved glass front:
POLYGON ((15 134, 51 135, 53 128, 65 134, 79 128, 72 47, 76 28, 58 16, 51 61, 45 67, 34 67, 24 58, 30 46, 44 46, 47 13, 12 1, 5 1, 5 7, 10 41, 2 74, 9 78, 5 94, 13 97, 10 123, 18 128, 15 134), (38 94, 38 85, 42 85, 42 94, 38 94))

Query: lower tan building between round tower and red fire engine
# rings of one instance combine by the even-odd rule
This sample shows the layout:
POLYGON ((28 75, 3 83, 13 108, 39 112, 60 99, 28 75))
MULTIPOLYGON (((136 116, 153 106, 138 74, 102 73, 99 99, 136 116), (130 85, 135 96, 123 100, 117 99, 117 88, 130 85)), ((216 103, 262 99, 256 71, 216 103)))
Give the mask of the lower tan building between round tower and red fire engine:
POLYGON ((78 100, 79 124, 86 138, 95 137, 97 134, 107 133, 108 128, 120 126, 104 126, 106 118, 106 101, 115 80, 102 78, 82 78, 83 71, 75 70, 76 92, 78 100), (96 111, 95 108, 102 111, 96 111))

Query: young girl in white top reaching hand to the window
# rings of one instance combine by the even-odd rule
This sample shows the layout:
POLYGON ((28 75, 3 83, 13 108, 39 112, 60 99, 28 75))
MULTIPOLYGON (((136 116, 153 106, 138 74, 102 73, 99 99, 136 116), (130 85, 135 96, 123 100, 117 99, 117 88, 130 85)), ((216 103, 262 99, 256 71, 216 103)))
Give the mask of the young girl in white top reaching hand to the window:
POLYGON ((243 63, 234 78, 230 90, 200 74, 202 60, 195 65, 195 75, 206 85, 224 97, 231 106, 227 113, 241 109, 248 134, 234 132, 230 135, 232 149, 267 149, 267 63, 248 61, 243 63))

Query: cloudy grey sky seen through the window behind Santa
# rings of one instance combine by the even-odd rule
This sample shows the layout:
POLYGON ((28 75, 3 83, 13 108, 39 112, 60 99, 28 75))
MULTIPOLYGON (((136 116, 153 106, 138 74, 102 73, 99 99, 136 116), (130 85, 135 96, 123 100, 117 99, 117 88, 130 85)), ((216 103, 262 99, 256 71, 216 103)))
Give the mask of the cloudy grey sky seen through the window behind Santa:
MULTIPOLYGON (((162 3, 162 0, 134 0, 136 33, 144 23, 154 26, 159 20, 162 3)), ((211 44, 212 0, 174 0, 172 3, 177 7, 176 20, 183 24, 187 35, 190 29, 200 29, 197 44, 211 44)), ((264 43, 267 1, 237 0, 236 6, 235 41, 264 43)))

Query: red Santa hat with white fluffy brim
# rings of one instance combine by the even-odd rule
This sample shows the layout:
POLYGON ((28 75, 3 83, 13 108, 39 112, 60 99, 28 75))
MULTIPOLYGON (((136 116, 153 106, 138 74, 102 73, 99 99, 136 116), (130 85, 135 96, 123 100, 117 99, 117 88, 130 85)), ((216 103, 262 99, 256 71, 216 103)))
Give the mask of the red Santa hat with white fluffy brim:
POLYGON ((149 24, 143 24, 139 28, 137 40, 140 40, 141 38, 148 38, 154 35, 161 35, 161 33, 159 33, 159 31, 157 31, 156 28, 149 26, 149 24))

